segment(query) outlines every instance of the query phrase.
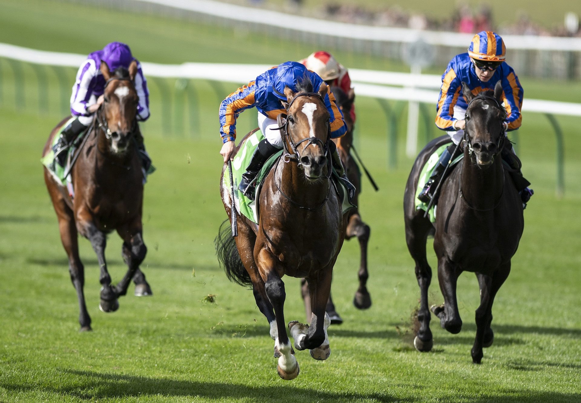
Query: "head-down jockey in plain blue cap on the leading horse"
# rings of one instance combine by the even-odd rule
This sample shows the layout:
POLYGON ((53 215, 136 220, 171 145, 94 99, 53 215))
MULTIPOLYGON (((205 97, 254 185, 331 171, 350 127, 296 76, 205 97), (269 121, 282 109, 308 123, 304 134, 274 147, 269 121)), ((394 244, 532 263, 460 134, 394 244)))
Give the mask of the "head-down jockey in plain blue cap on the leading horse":
MULTIPOLYGON (((245 109, 256 107, 258 110, 259 128, 265 138, 260 141, 256 148, 252 161, 246 168, 246 173, 243 174, 239 185, 242 193, 250 199, 254 198, 254 186, 250 186, 250 184, 268 158, 283 147, 284 140, 282 139, 281 131, 271 129, 278 128, 277 117, 286 112, 285 106, 282 104, 282 102, 286 102, 285 87, 297 92, 296 85, 304 80, 310 80, 315 91, 321 87, 321 84, 324 84, 321 77, 307 70, 301 63, 281 63, 260 74, 260 76, 256 77, 256 80, 250 81, 248 85, 244 85, 232 92, 220 104, 220 135, 223 142, 220 154, 224 157, 224 162, 234 158, 234 140, 236 138, 236 119, 238 115, 245 109)), ((343 113, 335 104, 335 97, 328 85, 324 102, 331 116, 331 138, 342 137, 347 131, 347 125, 343 121, 343 113)), ((339 173, 343 184, 347 187, 351 198, 354 195, 355 188, 347 180, 335 143, 330 141, 329 145, 333 166, 339 173)))

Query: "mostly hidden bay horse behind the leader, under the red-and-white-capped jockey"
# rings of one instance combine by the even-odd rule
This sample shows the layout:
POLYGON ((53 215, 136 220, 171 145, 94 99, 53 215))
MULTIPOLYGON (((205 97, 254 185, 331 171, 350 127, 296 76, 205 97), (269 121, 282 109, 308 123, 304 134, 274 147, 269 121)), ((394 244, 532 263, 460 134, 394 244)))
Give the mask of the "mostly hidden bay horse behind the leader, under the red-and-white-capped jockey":
MULTIPOLYGON (((355 91, 352 88, 349 93, 346 94, 340 87, 333 85, 331 86, 331 92, 335 95, 335 102, 343 111, 343 119, 347 124, 347 132, 345 135, 343 135, 343 137, 335 138, 333 141, 337 146, 337 151, 339 152, 343 167, 345 167, 347 178, 356 188, 355 196, 352 200, 355 207, 349 211, 349 215, 347 216, 347 230, 345 233, 345 240, 357 237, 361 251, 360 265, 357 273, 359 287, 353 297, 353 305, 358 309, 367 309, 371 306, 371 296, 367 291, 367 279, 369 278, 369 273, 367 271, 367 244, 369 242, 371 229, 365 222, 363 222, 363 220, 361 220, 357 208, 359 194, 361 192, 361 174, 357 162, 351 154, 355 122, 350 113, 351 108, 353 108, 353 102, 355 101, 355 91)), ((309 287, 307 286, 306 281, 303 281, 302 283, 302 295, 305 301, 307 318, 310 318, 309 287)), ((339 313, 337 313, 331 296, 329 296, 329 302, 327 304, 327 313, 331 318, 331 324, 343 323, 343 319, 341 319, 339 313)))

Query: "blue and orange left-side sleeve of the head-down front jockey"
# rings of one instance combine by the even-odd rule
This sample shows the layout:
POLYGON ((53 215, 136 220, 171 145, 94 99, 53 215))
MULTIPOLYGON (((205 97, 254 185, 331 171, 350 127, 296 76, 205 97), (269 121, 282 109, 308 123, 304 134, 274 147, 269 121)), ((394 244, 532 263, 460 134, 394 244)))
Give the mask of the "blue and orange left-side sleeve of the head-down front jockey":
POLYGON ((242 110, 256 106, 254 91, 256 82, 250 81, 228 95, 220 104, 220 135, 222 142, 234 141, 236 138, 236 119, 242 110))

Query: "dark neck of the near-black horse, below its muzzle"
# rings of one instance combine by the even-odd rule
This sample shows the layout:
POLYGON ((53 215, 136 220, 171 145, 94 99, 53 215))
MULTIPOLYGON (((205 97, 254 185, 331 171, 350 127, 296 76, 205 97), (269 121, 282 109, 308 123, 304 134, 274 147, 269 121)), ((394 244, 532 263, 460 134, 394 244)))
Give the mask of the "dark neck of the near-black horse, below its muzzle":
POLYGON ((467 150, 462 163, 462 197, 475 209, 492 209, 503 194, 504 172, 500 155, 494 156, 491 167, 481 169, 467 150))

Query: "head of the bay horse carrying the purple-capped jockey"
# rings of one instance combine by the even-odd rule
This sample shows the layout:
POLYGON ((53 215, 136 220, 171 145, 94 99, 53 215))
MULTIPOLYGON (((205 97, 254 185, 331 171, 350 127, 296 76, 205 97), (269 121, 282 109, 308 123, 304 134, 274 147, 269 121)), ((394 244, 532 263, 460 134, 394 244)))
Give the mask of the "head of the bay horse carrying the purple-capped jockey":
POLYGON ((107 63, 101 62, 101 73, 106 84, 99 123, 103 125, 111 151, 123 153, 137 129, 139 98, 133 83, 137 73, 137 62, 133 60, 129 69, 117 67, 113 72, 109 71, 107 63))

